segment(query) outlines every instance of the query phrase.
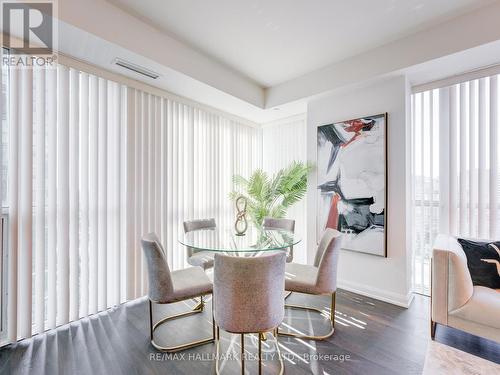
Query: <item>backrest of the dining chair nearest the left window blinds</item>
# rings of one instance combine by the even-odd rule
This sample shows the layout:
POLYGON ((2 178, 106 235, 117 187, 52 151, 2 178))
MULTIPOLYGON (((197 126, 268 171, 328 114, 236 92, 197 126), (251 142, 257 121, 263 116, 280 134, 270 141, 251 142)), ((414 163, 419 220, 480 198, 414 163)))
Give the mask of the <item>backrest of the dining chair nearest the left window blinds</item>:
POLYGON ((169 302, 174 293, 174 286, 160 240, 155 233, 149 233, 142 238, 141 244, 148 265, 149 299, 169 302))

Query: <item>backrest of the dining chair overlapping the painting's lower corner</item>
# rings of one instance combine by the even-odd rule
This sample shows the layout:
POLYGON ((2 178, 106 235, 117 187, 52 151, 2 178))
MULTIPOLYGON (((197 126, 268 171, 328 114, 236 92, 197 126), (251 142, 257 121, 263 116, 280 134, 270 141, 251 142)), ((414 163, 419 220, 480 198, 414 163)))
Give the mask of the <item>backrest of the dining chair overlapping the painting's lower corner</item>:
POLYGON ((342 233, 326 228, 314 259, 314 266, 318 267, 316 286, 323 293, 333 293, 337 289, 337 268, 341 247, 342 233))

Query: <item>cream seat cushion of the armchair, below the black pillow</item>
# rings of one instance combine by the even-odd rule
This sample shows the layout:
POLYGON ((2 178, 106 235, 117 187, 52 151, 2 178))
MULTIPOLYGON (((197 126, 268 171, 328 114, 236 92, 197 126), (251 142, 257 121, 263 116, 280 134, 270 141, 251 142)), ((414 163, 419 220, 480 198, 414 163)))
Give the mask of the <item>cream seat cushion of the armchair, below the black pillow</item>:
POLYGON ((450 315, 500 329, 500 295, 495 289, 475 286, 470 300, 450 315))

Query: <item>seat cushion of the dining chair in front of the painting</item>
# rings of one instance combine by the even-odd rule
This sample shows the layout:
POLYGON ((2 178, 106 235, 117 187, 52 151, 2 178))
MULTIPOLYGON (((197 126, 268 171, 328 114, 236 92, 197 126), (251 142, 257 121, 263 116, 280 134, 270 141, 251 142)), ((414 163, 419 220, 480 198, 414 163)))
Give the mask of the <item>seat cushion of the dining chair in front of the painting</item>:
POLYGON ((322 294, 316 285, 318 268, 299 263, 287 263, 285 266, 285 290, 289 292, 322 294))

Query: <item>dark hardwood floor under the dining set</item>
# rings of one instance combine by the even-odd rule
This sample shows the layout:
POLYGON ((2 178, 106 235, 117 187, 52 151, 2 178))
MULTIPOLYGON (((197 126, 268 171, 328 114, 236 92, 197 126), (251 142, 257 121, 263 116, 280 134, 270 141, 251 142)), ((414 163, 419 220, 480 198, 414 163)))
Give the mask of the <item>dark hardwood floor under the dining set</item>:
MULTIPOLYGON (((325 297, 293 295, 288 301, 327 309, 325 297)), ((190 306, 194 305, 191 303, 190 306)), ((189 308, 186 304, 158 306, 155 319, 189 308)), ((158 341, 181 343, 211 334, 211 309, 158 329, 158 341)), ((324 318, 287 311, 285 324, 321 334, 324 318)), ((327 341, 279 338, 286 374, 421 374, 429 342, 429 299, 417 295, 409 309, 337 292, 336 332, 327 341)), ((500 363, 500 346, 463 332, 438 326, 436 340, 500 363)), ((245 349, 256 353, 255 338, 245 349)), ((239 337, 223 334, 221 353, 239 353, 239 337)), ((273 340, 264 343, 264 373, 277 373, 273 340)), ((215 345, 177 355, 157 352, 149 343, 147 300, 132 301, 106 312, 0 349, 0 374, 211 374, 215 345)), ((237 355, 237 354, 236 354, 237 355)), ((223 373, 239 373, 239 362, 228 356, 223 373)), ((257 373, 247 360, 247 373, 257 373)))

